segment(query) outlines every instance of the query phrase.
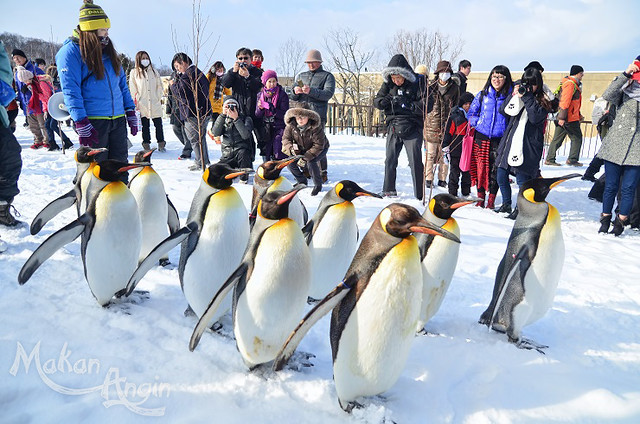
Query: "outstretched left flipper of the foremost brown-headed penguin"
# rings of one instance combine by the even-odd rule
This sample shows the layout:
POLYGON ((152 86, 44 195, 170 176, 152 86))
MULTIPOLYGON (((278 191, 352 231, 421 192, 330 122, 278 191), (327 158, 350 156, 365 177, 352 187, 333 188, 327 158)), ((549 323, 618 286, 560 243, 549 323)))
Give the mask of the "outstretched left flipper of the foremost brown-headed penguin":
POLYGON ((280 371, 289 361, 291 355, 295 352, 296 348, 309 332, 311 327, 320 320, 323 316, 328 314, 336 307, 338 303, 344 299, 351 289, 345 284, 338 285, 333 289, 324 299, 322 299, 313 309, 311 309, 307 315, 300 321, 298 326, 291 332, 289 338, 284 343, 280 352, 273 361, 273 370, 280 371))

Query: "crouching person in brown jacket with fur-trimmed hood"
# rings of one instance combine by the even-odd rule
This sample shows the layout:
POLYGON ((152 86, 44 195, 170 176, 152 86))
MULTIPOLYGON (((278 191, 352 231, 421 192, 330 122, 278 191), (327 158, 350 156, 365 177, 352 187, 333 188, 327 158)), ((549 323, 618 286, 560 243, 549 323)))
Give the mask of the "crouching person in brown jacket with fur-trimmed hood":
POLYGON ((289 156, 302 155, 288 166, 296 181, 307 184, 301 168, 309 168, 313 179, 311 195, 315 196, 322 190, 322 172, 320 161, 327 156, 329 140, 320 125, 320 115, 311 109, 293 108, 284 115, 287 124, 282 136, 282 152, 289 156))

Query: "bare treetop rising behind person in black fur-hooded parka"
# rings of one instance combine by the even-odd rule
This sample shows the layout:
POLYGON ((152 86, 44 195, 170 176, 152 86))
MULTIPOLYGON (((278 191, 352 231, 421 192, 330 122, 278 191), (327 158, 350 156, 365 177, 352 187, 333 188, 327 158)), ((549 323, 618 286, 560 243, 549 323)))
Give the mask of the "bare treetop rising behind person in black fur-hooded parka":
POLYGON ((448 60, 453 67, 462 52, 464 41, 449 34, 429 31, 426 28, 415 31, 397 31, 387 42, 389 55, 402 53, 414 68, 423 63, 427 69, 435 69, 441 60, 448 60))

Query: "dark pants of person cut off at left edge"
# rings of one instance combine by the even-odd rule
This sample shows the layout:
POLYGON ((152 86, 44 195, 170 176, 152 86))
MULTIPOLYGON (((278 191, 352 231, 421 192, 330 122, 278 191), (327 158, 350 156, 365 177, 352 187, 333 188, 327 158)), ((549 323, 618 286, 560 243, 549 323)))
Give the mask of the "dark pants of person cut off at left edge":
POLYGON ((18 177, 22 171, 22 147, 9 128, 0 123, 0 200, 8 203, 20 193, 18 177))

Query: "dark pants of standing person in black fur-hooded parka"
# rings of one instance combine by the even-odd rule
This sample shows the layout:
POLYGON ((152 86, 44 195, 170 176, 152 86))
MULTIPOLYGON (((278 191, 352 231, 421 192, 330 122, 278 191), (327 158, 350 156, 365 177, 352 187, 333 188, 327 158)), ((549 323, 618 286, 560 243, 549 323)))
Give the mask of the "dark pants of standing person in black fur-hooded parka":
POLYGON ((407 150, 407 157, 409 158, 413 194, 417 199, 422 200, 424 193, 424 181, 422 179, 424 165, 422 163, 422 131, 420 129, 416 129, 406 135, 403 134, 400 137, 393 130, 393 125, 389 126, 382 191, 396 191, 396 168, 398 167, 398 157, 402 151, 402 146, 407 150))

